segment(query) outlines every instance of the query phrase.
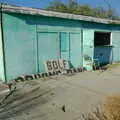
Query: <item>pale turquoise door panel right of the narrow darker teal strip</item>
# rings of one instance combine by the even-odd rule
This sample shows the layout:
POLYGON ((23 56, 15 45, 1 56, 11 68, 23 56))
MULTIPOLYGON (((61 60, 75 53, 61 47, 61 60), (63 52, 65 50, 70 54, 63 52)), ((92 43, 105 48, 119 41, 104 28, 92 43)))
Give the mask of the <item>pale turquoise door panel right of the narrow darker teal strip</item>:
POLYGON ((70 33, 70 61, 72 67, 78 68, 82 66, 81 49, 81 34, 70 33))

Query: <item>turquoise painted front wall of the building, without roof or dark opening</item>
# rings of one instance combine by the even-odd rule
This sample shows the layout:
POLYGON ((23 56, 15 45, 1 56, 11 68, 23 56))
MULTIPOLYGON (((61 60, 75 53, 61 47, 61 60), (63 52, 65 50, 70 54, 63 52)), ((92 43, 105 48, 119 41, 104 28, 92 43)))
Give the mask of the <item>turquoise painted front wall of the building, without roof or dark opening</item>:
POLYGON ((7 80, 45 71, 48 59, 63 58, 74 67, 84 64, 91 70, 83 55, 93 59, 95 51, 109 51, 94 48, 95 31, 112 32, 113 45, 117 46, 111 50, 113 61, 120 59, 116 53, 120 26, 13 13, 3 14, 3 26, 7 80))

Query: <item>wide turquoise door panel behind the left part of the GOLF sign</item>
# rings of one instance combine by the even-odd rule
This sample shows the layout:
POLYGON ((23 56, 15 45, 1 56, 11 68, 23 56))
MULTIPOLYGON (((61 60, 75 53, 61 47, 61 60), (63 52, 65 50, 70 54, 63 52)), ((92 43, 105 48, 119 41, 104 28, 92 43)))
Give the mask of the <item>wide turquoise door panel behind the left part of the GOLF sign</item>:
POLYGON ((45 72, 47 60, 59 58, 59 40, 56 32, 38 33, 38 71, 45 72))

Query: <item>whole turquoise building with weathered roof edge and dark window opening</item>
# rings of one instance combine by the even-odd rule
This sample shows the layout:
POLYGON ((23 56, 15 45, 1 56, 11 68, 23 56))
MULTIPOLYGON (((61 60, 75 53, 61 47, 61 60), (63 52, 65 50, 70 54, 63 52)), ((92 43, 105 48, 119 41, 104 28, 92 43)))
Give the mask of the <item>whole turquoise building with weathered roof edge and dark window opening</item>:
POLYGON ((120 21, 1 5, 0 80, 45 71, 44 62, 69 60, 91 70, 84 56, 101 64, 120 61, 120 21))

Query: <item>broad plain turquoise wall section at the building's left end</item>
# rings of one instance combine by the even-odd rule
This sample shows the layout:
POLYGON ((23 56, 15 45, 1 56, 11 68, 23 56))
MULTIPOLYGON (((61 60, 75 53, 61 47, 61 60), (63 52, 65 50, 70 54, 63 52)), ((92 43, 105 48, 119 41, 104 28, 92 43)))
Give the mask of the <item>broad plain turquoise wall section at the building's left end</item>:
POLYGON ((36 29, 26 16, 3 14, 7 80, 36 71, 36 29))

